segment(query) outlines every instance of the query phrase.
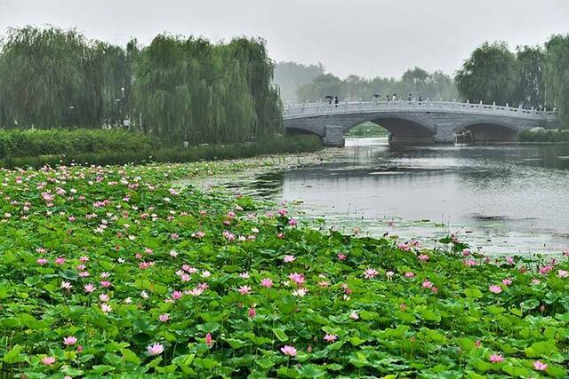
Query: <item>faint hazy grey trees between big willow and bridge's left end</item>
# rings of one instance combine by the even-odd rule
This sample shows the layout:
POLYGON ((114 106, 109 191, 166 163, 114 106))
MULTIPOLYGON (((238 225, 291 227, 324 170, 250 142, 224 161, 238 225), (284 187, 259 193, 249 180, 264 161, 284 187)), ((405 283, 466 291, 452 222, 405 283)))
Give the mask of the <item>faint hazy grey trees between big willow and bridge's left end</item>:
POLYGON ((298 88, 318 75, 323 75, 324 72, 325 69, 321 63, 303 65, 296 62, 279 62, 275 66, 274 82, 281 91, 283 101, 297 101, 298 88))

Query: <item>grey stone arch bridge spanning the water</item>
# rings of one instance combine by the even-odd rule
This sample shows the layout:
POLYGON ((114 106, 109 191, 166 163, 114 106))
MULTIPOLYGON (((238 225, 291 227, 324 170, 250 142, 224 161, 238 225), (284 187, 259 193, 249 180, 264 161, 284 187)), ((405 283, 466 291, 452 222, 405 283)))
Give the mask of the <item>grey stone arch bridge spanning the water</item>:
POLYGON ((364 101, 284 107, 287 133, 316 134, 325 146, 344 146, 344 133, 362 122, 389 131, 391 144, 453 143, 469 130, 478 142, 514 140, 521 130, 558 128, 556 114, 516 107, 447 101, 364 101))

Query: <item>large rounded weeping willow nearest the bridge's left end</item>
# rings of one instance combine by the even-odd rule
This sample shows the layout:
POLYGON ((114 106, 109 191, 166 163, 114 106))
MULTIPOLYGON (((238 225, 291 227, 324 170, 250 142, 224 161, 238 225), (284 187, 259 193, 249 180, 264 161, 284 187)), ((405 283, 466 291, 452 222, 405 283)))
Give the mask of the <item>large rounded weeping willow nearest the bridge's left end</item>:
POLYGON ((271 67, 255 40, 156 36, 135 59, 132 119, 141 130, 190 143, 275 132, 281 109, 271 67))

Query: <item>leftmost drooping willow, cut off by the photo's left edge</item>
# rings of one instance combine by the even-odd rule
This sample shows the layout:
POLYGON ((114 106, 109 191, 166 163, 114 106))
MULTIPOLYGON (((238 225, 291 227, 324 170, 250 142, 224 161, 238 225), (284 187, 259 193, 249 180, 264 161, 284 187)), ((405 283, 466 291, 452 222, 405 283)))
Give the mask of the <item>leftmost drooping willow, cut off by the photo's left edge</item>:
POLYGON ((82 122, 85 46, 75 29, 10 29, 0 52, 4 127, 82 122))

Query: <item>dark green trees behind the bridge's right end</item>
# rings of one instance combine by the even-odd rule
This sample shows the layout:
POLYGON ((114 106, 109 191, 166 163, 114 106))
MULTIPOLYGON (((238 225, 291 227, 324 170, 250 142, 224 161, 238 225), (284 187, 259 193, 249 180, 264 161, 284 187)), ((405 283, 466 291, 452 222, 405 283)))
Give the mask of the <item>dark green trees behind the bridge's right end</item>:
POLYGON ((511 107, 556 108, 569 123, 569 35, 543 46, 484 43, 455 76, 462 99, 511 107))

